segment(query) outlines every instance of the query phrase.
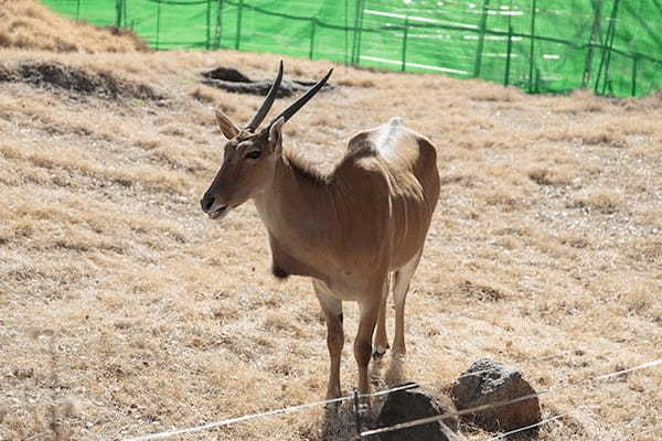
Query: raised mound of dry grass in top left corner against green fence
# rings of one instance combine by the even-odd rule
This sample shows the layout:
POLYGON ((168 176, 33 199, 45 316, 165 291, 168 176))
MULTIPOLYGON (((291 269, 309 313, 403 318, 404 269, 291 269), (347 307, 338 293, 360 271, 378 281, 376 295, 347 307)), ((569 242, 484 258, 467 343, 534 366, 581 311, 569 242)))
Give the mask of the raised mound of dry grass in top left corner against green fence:
POLYGON ((74 23, 36 0, 0 0, 2 47, 85 53, 149 51, 130 31, 74 23))

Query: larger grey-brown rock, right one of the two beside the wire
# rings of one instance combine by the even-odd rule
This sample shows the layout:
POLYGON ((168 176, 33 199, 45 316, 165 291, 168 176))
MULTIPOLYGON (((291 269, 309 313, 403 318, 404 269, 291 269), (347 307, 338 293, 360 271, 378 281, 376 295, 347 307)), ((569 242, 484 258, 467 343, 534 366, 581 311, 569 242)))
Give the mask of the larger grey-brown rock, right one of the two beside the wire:
MULTIPOLYGON (((452 395, 458 410, 483 405, 494 405, 535 394, 522 378, 522 373, 489 358, 473 363, 453 384, 452 395)), ((496 406, 470 413, 466 418, 488 431, 511 431, 541 421, 541 407, 537 397, 496 406)), ((523 432, 537 434, 537 428, 523 432)))

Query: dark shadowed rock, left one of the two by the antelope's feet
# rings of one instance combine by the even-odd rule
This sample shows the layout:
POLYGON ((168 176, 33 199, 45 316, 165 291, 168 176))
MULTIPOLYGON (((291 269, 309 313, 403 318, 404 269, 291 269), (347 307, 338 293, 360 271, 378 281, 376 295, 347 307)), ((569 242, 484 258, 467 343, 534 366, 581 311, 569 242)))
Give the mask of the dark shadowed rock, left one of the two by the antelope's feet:
MULTIPOLYGON (((429 390, 420 387, 398 390, 389 394, 377 417, 377 427, 394 426, 420 418, 434 417, 455 411, 452 401, 445 396, 434 396, 429 390)), ((380 433, 382 441, 448 441, 444 434, 441 423, 453 432, 458 429, 456 417, 448 417, 441 421, 427 424, 380 433)))

